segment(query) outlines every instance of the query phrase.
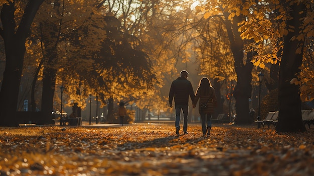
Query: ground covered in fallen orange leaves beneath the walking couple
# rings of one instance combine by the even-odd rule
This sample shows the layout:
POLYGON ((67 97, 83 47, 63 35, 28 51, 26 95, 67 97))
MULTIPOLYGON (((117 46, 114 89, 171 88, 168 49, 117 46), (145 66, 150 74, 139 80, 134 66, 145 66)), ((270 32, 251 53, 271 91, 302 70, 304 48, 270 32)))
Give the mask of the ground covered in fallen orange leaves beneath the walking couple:
POLYGON ((200 124, 0 128, 1 175, 314 175, 314 130, 200 124), (182 131, 181 131, 182 133, 182 131))

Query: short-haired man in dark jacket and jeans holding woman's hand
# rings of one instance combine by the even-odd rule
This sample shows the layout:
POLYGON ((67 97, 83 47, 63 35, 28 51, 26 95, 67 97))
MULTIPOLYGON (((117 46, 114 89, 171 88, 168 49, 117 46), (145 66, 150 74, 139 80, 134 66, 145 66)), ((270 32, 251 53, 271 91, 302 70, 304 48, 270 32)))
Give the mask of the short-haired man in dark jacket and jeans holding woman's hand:
POLYGON ((181 110, 183 112, 183 132, 184 134, 188 134, 188 111, 189 111, 189 95, 191 100, 194 100, 194 91, 192 84, 188 78, 188 72, 186 70, 182 70, 180 72, 180 77, 174 80, 171 84, 170 92, 169 92, 169 106, 172 108, 172 101, 175 97, 175 110, 176 110, 176 134, 179 135, 180 130, 180 115, 181 110))

